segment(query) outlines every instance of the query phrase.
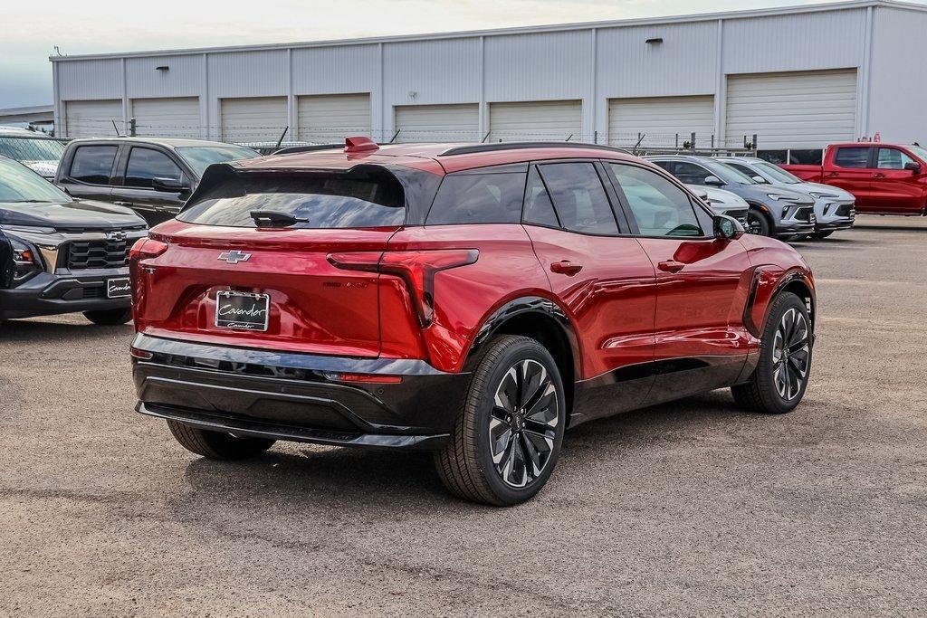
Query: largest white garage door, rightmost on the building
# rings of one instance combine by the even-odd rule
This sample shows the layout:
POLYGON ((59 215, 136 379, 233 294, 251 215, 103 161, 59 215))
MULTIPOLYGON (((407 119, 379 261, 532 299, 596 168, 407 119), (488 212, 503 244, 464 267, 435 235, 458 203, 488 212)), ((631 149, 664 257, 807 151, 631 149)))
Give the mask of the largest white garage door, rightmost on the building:
POLYGON ((819 70, 728 77, 726 142, 761 149, 821 148, 856 135, 857 71, 819 70))

